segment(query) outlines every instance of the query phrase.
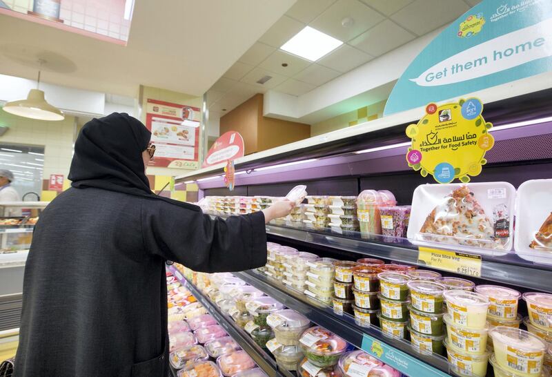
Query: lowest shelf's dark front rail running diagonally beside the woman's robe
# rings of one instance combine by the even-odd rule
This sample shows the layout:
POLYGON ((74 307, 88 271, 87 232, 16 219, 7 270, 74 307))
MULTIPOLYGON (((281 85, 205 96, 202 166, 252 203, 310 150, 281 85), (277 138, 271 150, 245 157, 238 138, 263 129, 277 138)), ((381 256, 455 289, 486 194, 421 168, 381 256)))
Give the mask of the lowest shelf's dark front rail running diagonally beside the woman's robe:
POLYGON ((255 363, 257 363, 257 365, 259 365, 259 367, 263 369, 268 376, 293 377, 293 374, 290 374, 289 371, 279 370, 275 360, 271 358, 266 351, 259 347, 244 330, 239 329, 239 327, 235 325, 232 318, 222 313, 217 305, 213 304, 211 300, 206 298, 206 296, 204 296, 204 294, 201 293, 201 291, 199 291, 194 284, 186 280, 186 278, 182 276, 180 271, 178 271, 174 265, 169 266, 168 270, 172 272, 181 284, 186 286, 186 288, 192 292, 197 301, 201 302, 201 305, 206 307, 207 311, 215 318, 215 320, 219 322, 228 335, 232 336, 232 338, 236 340, 239 346, 242 347, 242 349, 244 349, 244 351, 246 351, 251 358, 253 358, 253 360, 255 360, 255 363))

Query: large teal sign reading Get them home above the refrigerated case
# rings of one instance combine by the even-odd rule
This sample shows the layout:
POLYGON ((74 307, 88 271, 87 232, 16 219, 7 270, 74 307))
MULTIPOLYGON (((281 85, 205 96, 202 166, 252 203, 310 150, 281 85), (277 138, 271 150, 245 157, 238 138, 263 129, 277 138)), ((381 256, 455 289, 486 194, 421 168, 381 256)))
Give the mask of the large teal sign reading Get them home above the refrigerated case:
POLYGON ((550 0, 483 0, 406 68, 384 115, 552 70, 550 0))

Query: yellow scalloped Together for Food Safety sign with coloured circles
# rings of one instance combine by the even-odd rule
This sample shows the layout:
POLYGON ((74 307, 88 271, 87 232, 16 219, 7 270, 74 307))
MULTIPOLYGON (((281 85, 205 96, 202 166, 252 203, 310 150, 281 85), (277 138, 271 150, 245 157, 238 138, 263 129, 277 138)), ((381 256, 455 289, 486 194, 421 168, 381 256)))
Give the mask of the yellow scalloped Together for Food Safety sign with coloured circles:
POLYGON ((422 176, 433 175, 439 183, 455 178, 469 182, 486 164, 485 153, 493 148, 493 127, 482 116, 483 104, 477 98, 437 106, 428 104, 426 115, 406 127, 412 139, 406 161, 422 176))

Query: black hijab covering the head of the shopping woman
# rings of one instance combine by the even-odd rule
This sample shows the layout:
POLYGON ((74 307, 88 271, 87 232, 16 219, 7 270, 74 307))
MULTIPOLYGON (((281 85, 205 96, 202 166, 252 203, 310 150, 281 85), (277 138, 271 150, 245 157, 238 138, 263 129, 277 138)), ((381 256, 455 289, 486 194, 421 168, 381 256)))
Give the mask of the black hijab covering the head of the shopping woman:
POLYGON ((154 197, 188 209, 195 207, 152 193, 142 160, 150 138, 146 126, 126 113, 92 119, 83 126, 75 142, 68 177, 71 186, 96 187, 154 197))

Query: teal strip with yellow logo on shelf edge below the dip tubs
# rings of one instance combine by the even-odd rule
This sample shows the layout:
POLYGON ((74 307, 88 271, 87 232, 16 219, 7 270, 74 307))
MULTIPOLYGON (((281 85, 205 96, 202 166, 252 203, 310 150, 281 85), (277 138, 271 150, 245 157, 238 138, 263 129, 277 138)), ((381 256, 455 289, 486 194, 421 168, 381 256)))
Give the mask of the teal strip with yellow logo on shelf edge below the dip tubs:
POLYGON ((375 356, 382 362, 408 376, 445 377, 449 374, 431 367, 396 348, 386 345, 367 334, 362 336, 362 351, 375 356))

